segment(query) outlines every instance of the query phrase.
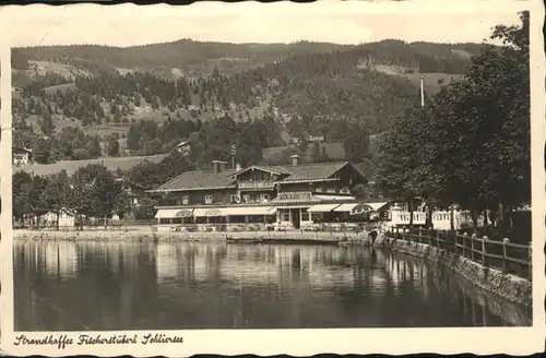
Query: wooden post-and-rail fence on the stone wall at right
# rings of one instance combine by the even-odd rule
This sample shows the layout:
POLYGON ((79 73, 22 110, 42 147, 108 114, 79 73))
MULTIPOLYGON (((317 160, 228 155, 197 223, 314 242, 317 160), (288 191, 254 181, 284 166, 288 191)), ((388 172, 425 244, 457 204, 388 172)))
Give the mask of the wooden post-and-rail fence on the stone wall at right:
POLYGON ((427 229, 392 228, 391 237, 412 242, 425 243, 448 252, 462 255, 484 267, 499 268, 531 279, 532 251, 529 244, 512 243, 508 238, 490 240, 487 236, 458 234, 456 231, 432 231, 427 229))

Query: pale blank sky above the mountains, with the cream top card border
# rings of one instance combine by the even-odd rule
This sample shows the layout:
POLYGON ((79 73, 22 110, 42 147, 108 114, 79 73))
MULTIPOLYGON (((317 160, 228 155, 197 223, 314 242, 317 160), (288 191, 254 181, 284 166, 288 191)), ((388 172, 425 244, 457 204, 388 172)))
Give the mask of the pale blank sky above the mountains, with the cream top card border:
POLYGON ((434 0, 316 3, 198 3, 187 7, 76 4, 0 9, 11 45, 133 46, 180 38, 229 43, 359 44, 477 41, 497 24, 518 24, 526 1, 434 0), (379 3, 380 2, 380 3, 379 3), (8 20, 8 21, 7 21, 8 20))

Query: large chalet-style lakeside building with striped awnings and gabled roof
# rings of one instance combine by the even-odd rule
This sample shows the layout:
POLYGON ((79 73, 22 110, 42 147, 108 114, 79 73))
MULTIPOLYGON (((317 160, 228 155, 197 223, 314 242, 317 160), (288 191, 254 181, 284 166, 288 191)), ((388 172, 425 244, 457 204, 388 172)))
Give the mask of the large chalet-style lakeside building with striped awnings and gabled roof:
POLYGON ((198 230, 300 229, 340 222, 357 205, 366 178, 348 162, 187 171, 150 192, 159 196, 159 227, 198 230))

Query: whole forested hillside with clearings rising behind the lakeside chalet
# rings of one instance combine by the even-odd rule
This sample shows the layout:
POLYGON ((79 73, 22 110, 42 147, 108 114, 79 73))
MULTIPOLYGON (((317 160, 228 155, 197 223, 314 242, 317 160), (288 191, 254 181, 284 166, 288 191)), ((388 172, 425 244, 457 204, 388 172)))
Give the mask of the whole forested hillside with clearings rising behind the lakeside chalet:
POLYGON ((479 48, 180 40, 14 49, 14 146, 52 163, 168 153, 190 140, 199 167, 228 157, 232 145, 251 164, 289 138, 321 135, 359 162, 370 157, 368 136, 419 102, 416 79, 449 81, 479 48))

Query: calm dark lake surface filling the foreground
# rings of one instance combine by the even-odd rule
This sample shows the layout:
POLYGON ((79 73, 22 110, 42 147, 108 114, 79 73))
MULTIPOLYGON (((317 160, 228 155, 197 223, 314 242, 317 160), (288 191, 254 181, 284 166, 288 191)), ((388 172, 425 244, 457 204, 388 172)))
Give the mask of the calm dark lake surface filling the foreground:
POLYGON ((531 325, 531 310, 365 247, 14 243, 16 331, 531 325))

